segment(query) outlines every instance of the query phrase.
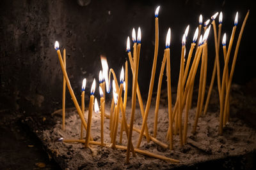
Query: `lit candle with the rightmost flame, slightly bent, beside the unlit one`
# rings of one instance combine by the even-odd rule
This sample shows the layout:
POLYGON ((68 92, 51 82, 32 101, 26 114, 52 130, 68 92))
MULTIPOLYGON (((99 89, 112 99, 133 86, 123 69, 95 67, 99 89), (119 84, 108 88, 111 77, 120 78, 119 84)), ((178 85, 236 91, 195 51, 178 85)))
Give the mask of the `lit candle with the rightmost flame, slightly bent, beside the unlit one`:
POLYGON ((234 27, 232 30, 232 34, 231 34, 231 38, 228 44, 228 52, 227 52, 227 56, 225 59, 225 66, 223 69, 223 76, 222 76, 222 83, 221 83, 221 96, 220 96, 220 126, 219 126, 219 134, 222 135, 223 132, 223 98, 224 98, 224 88, 225 88, 225 79, 226 79, 226 75, 227 75, 227 69, 228 69, 228 61, 229 61, 229 57, 230 57, 230 52, 231 52, 231 48, 232 48, 232 44, 234 41, 234 36, 235 36, 235 32, 236 32, 236 26, 237 26, 237 17, 238 17, 238 13, 236 13, 236 18, 235 18, 235 22, 234 22, 234 27))

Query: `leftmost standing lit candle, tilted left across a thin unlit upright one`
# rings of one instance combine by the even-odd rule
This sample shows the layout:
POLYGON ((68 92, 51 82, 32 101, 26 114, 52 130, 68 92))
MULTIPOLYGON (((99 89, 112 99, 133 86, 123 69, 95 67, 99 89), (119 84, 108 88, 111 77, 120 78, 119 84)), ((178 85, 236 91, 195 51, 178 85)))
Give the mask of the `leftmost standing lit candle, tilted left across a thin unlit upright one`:
MULTIPOLYGON (((65 69, 62 57, 61 57, 58 41, 55 42, 54 48, 57 50, 58 59, 60 60, 60 65, 61 65, 62 73, 63 73, 63 75, 65 77, 66 82, 67 82, 68 91, 70 93, 70 96, 72 97, 72 101, 74 102, 74 104, 76 106, 76 110, 77 110, 77 113, 78 113, 79 117, 81 118, 82 124, 84 125, 84 128, 87 131, 87 124, 86 124, 85 120, 83 119, 83 113, 82 113, 81 108, 80 108, 80 106, 79 106, 79 104, 77 102, 77 99, 76 99, 76 96, 74 94, 74 91, 73 91, 73 89, 72 89, 72 87, 70 85, 70 81, 68 79, 68 74, 67 74, 67 71, 65 69)), ((92 136, 90 136, 90 138, 91 138, 91 140, 93 140, 92 136)))

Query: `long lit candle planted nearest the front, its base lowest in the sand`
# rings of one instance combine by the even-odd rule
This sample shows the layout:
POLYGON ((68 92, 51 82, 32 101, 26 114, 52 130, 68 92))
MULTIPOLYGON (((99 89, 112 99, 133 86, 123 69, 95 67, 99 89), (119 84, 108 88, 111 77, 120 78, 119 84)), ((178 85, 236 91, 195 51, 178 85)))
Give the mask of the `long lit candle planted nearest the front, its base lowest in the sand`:
MULTIPOLYGON (((131 143, 132 143, 132 127, 133 127, 134 113, 135 113, 135 107, 136 107, 136 90, 137 90, 138 69, 139 69, 139 61, 140 61, 140 48, 141 48, 140 27, 138 29, 138 38, 137 39, 138 39, 138 46, 137 46, 136 60, 134 60, 135 67, 134 67, 134 76, 133 76, 133 80, 132 80, 132 111, 131 111, 129 137, 128 137, 128 143, 127 143, 127 156, 126 156, 127 164, 129 163, 129 159, 130 159, 130 151, 131 151, 131 143)), ((144 118, 145 118, 145 115, 144 115, 144 118)), ((142 129, 141 129, 141 131, 142 131, 142 129)))

